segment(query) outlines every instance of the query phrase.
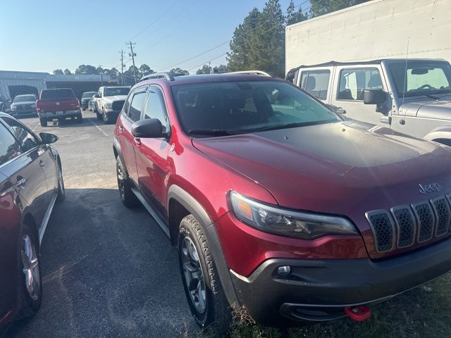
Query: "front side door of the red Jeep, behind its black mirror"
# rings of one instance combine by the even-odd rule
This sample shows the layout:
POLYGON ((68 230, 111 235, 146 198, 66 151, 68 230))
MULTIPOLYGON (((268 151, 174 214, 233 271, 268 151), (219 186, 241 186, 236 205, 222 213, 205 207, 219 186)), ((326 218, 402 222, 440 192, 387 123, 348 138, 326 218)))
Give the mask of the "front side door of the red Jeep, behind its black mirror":
MULTIPOLYGON (((142 118, 158 118, 163 131, 170 132, 166 102, 161 88, 149 87, 142 118)), ((134 144, 140 190, 144 197, 165 218, 166 184, 171 168, 168 165, 168 139, 140 139, 134 144)))

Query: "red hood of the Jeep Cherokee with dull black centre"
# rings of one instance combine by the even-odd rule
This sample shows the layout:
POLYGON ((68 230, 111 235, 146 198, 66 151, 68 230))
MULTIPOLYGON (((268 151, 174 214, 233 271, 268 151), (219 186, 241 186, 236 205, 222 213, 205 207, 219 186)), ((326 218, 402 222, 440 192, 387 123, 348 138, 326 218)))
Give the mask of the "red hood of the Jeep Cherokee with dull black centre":
POLYGON ((366 211, 434 197, 419 184, 451 191, 451 147, 354 120, 192 142, 280 206, 347 215, 361 230, 366 211))

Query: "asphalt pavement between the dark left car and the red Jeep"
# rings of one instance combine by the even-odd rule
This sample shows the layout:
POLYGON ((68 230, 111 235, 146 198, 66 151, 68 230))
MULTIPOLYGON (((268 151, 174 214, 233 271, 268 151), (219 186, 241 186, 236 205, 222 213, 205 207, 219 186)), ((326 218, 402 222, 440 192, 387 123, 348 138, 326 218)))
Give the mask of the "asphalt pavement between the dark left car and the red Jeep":
POLYGON ((141 206, 121 203, 113 125, 84 122, 30 129, 58 135, 66 199, 56 204, 39 262, 44 296, 33 318, 6 337, 180 337, 197 331, 173 248, 141 206))

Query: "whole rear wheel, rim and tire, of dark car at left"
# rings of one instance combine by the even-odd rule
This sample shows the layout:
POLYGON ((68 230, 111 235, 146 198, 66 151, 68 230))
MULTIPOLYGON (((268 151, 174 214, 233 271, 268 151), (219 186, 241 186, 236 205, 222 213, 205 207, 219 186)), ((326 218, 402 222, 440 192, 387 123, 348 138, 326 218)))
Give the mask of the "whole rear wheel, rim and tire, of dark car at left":
POLYGON ((42 301, 42 277, 38 261, 38 239, 36 232, 23 225, 20 234, 20 270, 18 271, 22 292, 19 317, 34 315, 42 301))

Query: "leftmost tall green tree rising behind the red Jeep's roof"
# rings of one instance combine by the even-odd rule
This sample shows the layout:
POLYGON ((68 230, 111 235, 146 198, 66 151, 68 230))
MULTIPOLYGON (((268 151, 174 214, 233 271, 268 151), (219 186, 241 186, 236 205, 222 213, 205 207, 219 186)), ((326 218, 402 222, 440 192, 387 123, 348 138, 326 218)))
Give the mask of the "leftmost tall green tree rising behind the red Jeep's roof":
POLYGON ((249 12, 243 23, 233 32, 230 42, 230 52, 227 53, 228 68, 230 71, 246 70, 252 68, 249 63, 249 51, 261 13, 257 8, 249 12))

